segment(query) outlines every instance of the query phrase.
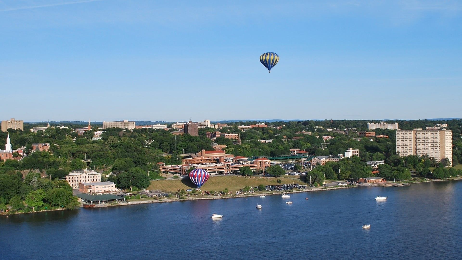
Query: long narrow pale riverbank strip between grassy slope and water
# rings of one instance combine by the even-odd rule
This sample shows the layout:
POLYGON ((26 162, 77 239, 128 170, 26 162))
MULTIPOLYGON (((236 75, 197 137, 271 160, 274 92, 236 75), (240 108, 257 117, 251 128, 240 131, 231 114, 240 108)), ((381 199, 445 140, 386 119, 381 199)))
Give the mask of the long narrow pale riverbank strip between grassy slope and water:
POLYGON ((319 192, 319 191, 329 191, 329 190, 337 190, 337 189, 347 189, 347 188, 355 188, 357 186, 348 185, 344 187, 337 187, 334 186, 332 188, 329 187, 319 187, 319 188, 309 188, 304 190, 297 190, 297 191, 284 191, 284 192, 262 192, 262 193, 252 193, 252 194, 241 194, 241 195, 228 195, 228 196, 207 196, 207 197, 190 197, 190 198, 161 198, 161 199, 146 199, 146 200, 138 200, 138 201, 129 201, 129 202, 122 202, 122 203, 109 203, 109 204, 95 204, 95 207, 112 207, 112 206, 124 206, 124 205, 136 205, 136 204, 147 204, 147 203, 168 203, 168 202, 175 202, 175 201, 187 201, 187 200, 211 200, 211 199, 227 199, 227 198, 244 198, 244 197, 257 197, 257 196, 271 196, 271 195, 281 195, 285 193, 300 193, 300 192, 319 192))

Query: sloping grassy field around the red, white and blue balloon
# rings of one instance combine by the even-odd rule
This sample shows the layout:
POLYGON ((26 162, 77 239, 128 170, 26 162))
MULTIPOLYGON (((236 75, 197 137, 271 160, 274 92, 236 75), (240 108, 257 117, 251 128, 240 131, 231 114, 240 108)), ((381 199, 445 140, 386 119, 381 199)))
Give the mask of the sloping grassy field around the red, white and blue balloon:
MULTIPOLYGON (((260 184, 266 185, 278 185, 277 180, 282 181, 281 184, 292 184, 295 180, 299 184, 305 184, 302 180, 299 179, 299 176, 288 176, 281 178, 261 178, 261 177, 241 177, 241 176, 211 176, 207 182, 202 185, 202 191, 223 191, 225 188, 228 188, 230 192, 236 192, 240 188, 245 186, 256 187, 260 184)), ((194 184, 189 180, 189 178, 178 179, 178 180, 154 180, 149 186, 150 190, 162 190, 176 192, 181 189, 192 189, 195 188, 194 184)))

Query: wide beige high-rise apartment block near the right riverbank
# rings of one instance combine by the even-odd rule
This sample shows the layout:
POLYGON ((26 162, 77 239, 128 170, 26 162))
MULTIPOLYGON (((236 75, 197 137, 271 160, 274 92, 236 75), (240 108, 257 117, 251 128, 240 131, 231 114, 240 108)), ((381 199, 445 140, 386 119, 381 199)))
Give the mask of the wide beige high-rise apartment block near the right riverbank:
POLYGON ((416 128, 396 130, 396 152, 401 156, 428 155, 441 161, 448 158, 452 165, 452 131, 416 128))

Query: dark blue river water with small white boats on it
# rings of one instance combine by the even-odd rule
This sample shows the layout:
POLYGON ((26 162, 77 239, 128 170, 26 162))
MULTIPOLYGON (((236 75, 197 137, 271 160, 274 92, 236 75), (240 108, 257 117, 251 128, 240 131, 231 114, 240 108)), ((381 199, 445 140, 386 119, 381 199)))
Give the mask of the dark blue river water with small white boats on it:
POLYGON ((462 181, 444 181, 303 192, 291 198, 21 214, 0 217, 0 255, 98 260, 462 259, 461 200, 462 181), (376 201, 376 195, 388 199, 376 201), (213 213, 224 217, 211 219, 213 213), (363 224, 371 228, 362 229, 363 224))

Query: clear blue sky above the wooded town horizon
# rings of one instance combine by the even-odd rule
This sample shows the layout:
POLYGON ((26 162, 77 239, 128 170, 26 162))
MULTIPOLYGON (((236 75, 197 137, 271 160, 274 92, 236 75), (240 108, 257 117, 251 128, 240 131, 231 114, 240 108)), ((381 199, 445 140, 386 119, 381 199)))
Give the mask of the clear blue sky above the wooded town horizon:
POLYGON ((0 115, 462 117, 461 32, 461 1, 0 0, 0 115))

